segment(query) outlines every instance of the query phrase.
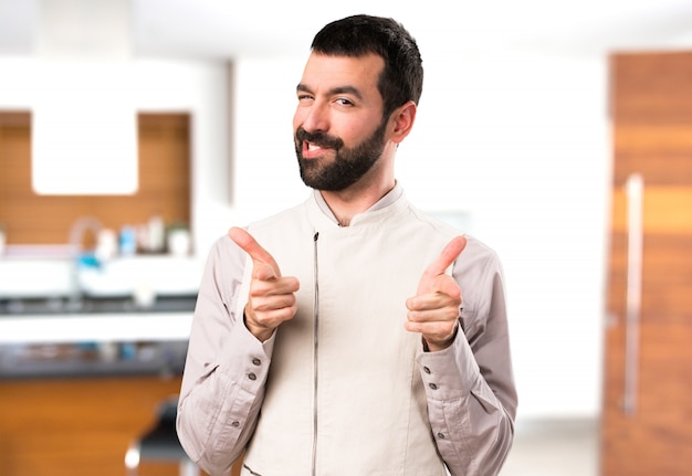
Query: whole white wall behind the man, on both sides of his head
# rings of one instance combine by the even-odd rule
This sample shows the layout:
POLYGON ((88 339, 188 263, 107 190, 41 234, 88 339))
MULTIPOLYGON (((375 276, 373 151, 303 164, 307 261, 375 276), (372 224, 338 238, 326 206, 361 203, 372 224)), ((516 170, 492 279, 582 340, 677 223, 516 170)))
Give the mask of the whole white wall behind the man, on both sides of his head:
MULTIPOLYGON (((304 60, 239 60, 230 97, 223 64, 136 62, 141 110, 192 113, 200 260, 230 225, 308 193, 291 126, 304 60)), ((423 209, 468 213, 468 231, 502 257, 520 417, 595 416, 610 169, 605 60, 507 53, 426 57, 424 64, 398 179, 423 209)), ((31 107, 33 71, 29 60, 0 59, 0 108, 31 107)))

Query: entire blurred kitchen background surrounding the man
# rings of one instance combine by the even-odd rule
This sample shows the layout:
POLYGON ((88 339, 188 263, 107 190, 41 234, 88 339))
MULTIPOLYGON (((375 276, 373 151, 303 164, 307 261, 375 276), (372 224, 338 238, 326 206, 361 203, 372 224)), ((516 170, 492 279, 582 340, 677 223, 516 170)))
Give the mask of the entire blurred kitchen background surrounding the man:
POLYGON ((308 193, 295 84, 313 34, 360 12, 423 56, 409 199, 504 263, 521 400, 503 475, 692 472, 690 430, 644 414, 692 419, 692 306, 665 294, 691 284, 692 2, 0 0, 1 475, 125 472, 178 391, 211 244, 308 193), (644 190, 662 211, 642 258, 644 190), (652 343, 626 329, 668 306, 652 343))

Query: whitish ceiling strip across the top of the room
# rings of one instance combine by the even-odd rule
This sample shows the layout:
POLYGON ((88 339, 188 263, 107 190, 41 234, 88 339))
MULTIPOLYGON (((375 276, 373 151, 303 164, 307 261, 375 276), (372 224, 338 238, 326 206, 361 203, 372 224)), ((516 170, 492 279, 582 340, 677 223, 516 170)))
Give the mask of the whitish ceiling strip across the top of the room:
POLYGON ((323 24, 360 12, 401 21, 423 57, 502 50, 590 55, 692 49, 692 0, 457 0, 430 10, 426 2, 400 0, 0 0, 0 55, 35 53, 44 24, 38 19, 53 1, 124 7, 129 31, 123 36, 141 57, 303 54, 323 24))

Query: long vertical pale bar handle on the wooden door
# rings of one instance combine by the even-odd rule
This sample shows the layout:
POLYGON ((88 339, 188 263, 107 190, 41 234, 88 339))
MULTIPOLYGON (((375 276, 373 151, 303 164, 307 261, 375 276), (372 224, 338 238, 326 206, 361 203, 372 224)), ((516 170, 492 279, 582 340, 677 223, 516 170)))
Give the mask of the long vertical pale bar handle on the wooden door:
POLYGON ((641 319, 641 279, 643 258, 643 178, 633 173, 627 179, 627 303, 625 317, 625 395, 627 416, 637 411, 639 387, 639 332, 641 319))

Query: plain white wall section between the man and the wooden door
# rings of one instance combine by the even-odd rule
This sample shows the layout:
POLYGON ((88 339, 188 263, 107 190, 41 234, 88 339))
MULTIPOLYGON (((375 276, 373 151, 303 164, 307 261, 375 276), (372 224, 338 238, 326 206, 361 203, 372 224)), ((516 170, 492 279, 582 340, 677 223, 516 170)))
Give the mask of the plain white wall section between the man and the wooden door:
POLYGON ((520 415, 594 416, 610 170, 605 61, 517 53, 462 60, 455 74, 430 63, 400 177, 417 202, 469 210, 471 232, 503 258, 520 415))

